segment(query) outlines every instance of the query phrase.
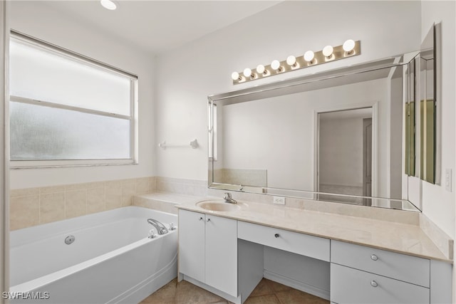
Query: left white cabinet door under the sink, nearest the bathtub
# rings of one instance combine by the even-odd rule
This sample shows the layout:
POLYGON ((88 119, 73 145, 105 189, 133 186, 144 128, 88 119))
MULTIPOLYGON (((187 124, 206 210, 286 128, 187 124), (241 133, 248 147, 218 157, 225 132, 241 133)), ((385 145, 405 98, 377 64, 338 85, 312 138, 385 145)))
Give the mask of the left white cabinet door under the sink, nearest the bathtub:
POLYGON ((204 214, 179 210, 179 272, 204 282, 204 214))

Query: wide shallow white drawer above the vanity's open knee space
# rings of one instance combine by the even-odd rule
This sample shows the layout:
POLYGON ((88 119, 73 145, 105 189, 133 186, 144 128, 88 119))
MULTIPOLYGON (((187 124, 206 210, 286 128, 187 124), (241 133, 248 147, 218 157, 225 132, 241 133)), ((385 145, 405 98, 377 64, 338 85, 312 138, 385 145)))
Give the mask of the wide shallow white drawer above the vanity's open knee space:
POLYGON ((317 236, 238 221, 237 238, 303 256, 329 261, 329 240, 317 236))

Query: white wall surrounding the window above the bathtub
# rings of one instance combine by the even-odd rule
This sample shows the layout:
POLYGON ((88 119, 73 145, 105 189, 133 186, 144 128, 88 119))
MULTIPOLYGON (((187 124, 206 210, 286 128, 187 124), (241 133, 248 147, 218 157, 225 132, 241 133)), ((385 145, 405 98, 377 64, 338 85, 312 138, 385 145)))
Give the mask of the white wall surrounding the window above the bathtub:
POLYGON ((154 58, 118 41, 110 33, 97 32, 61 11, 38 1, 10 1, 10 26, 30 36, 76 51, 138 75, 139 164, 103 167, 11 170, 11 189, 58 184, 149 177, 155 174, 153 158, 154 58))

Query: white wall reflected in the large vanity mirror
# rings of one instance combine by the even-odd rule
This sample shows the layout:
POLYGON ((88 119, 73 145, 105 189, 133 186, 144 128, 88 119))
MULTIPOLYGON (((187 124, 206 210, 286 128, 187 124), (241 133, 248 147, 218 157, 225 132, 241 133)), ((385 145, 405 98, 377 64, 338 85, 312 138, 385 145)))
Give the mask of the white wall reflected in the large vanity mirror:
MULTIPOLYGON (((268 187, 314 191, 316 112, 366 108, 377 103, 378 176, 374 181, 378 182, 377 195, 387 196, 387 86, 384 78, 224 106, 223 140, 219 138, 223 157, 217 163, 223 162, 229 169, 267 169, 268 187)), ((362 130, 362 120, 360 123, 362 130)), ((333 149, 343 150, 343 146, 333 149)), ((361 161, 359 165, 361 184, 352 186, 362 187, 361 161)))

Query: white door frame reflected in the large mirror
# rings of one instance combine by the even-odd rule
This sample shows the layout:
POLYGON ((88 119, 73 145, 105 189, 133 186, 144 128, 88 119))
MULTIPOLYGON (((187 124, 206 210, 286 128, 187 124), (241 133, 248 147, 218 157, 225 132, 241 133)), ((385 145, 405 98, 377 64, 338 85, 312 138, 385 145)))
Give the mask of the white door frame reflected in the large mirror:
MULTIPOLYGON (((324 112, 336 112, 342 110, 356 110, 361 108, 372 108, 372 197, 378 196, 378 101, 366 101, 365 103, 352 103, 348 105, 330 105, 326 108, 314 110, 314 191, 319 192, 320 184, 318 172, 319 159, 318 147, 320 146, 320 121, 318 114, 324 112)), ((318 194, 317 194, 318 195, 318 194)))

